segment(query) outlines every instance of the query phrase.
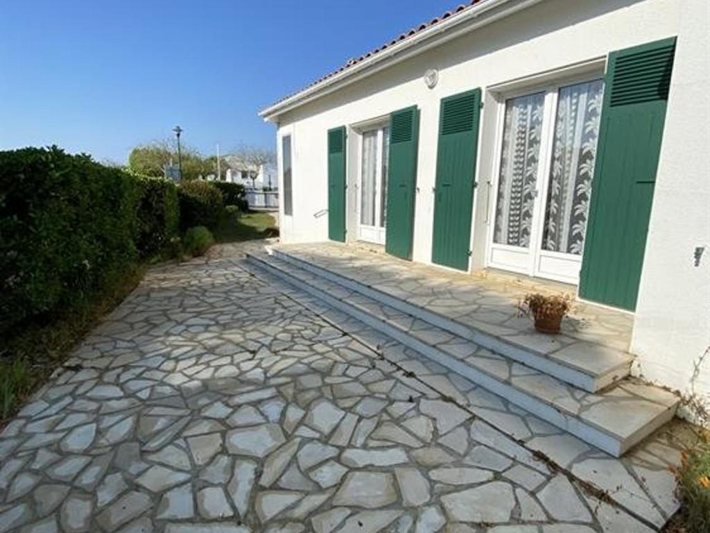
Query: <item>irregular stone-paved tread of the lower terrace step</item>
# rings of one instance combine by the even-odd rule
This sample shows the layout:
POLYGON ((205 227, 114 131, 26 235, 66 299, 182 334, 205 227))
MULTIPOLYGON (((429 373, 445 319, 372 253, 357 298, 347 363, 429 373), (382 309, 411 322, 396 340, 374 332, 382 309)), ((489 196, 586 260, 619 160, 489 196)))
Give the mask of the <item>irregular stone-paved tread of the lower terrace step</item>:
MULTIPOLYGON (((599 435, 596 428, 601 428, 601 438, 613 436, 618 443, 628 447, 628 443, 633 443, 634 439, 641 440, 647 435, 644 433, 646 426, 651 425, 649 431, 652 431, 673 416, 678 399, 674 394, 659 387, 626 378, 601 393, 586 392, 322 276, 296 269, 278 257, 265 253, 253 254, 253 257, 257 267, 268 265, 268 268, 277 269, 280 274, 294 280, 293 284, 298 289, 315 289, 332 299, 342 300, 357 311, 367 313, 377 321, 377 325, 388 325, 405 333, 408 338, 420 341, 420 345, 429 348, 429 353, 435 352, 435 355, 430 357, 442 365, 442 358, 454 363, 464 362, 467 367, 493 377, 499 383, 509 385, 528 397, 542 400, 554 408, 555 418, 562 414, 562 419, 559 420, 562 427, 566 427, 570 424, 569 420, 574 419, 586 424, 575 427, 575 431, 581 434, 586 432, 587 435, 591 431, 594 438, 594 433, 599 435)), ((327 303, 327 300, 325 302, 327 303)), ((590 355, 591 357, 594 356, 590 355)), ((518 399, 518 402, 521 402, 521 399, 518 399)), ((523 400, 518 407, 525 409, 528 407, 527 402, 523 400)), ((594 440, 591 442, 594 443, 594 440)))

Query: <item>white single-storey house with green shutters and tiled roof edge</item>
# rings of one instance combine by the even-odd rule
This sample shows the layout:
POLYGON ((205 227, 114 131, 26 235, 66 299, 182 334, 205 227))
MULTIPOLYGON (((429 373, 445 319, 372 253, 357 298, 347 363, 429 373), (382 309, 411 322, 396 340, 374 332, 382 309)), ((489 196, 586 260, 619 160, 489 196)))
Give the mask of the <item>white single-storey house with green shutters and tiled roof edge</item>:
POLYGON ((561 281, 710 399, 706 0, 478 0, 261 111, 285 243, 561 281))

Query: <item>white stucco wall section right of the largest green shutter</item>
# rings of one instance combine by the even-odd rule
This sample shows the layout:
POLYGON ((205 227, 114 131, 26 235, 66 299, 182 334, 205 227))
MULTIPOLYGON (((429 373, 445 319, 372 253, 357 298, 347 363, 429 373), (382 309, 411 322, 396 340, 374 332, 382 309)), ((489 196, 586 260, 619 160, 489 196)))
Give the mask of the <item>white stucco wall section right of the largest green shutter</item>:
POLYGON ((631 350, 644 377, 710 405, 710 11, 682 4, 631 350))

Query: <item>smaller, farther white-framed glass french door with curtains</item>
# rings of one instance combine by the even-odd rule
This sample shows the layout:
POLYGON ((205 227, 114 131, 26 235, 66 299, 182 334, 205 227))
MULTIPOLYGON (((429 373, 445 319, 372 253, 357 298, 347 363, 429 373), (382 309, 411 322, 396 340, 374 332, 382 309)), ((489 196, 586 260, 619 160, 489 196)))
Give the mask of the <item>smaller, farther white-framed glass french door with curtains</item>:
POLYGON ((389 143, 388 126, 362 133, 358 238, 376 244, 385 244, 389 143))

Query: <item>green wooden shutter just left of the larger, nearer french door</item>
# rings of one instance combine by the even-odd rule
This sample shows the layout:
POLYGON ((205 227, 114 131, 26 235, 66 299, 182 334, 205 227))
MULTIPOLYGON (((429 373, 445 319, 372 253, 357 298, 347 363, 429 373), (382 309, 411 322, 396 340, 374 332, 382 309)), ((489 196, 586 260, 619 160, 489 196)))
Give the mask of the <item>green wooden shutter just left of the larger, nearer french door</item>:
POLYGON ((468 270, 481 90, 442 99, 432 261, 468 270))

